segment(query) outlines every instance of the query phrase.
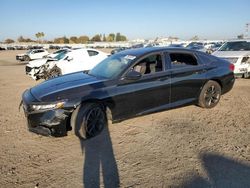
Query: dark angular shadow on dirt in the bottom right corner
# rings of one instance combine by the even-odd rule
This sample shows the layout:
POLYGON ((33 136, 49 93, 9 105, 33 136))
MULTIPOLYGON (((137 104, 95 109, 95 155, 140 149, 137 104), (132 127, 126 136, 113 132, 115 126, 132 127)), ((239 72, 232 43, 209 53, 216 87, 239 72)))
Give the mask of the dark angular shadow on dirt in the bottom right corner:
POLYGON ((208 179, 193 175, 181 187, 250 187, 250 165, 213 153, 203 154, 201 159, 208 179))

